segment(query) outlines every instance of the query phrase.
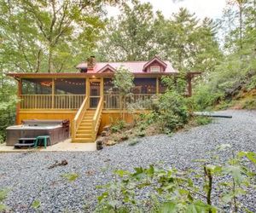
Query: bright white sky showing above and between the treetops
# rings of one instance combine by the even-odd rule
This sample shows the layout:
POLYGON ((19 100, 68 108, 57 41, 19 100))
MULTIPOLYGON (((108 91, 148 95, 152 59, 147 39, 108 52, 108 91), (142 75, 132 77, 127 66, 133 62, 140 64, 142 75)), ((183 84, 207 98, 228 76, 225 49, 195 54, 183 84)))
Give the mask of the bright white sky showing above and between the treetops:
MULTIPOLYGON (((225 7, 225 0, 183 0, 173 3, 172 0, 140 0, 142 3, 149 2, 153 5, 154 11, 160 10, 166 18, 172 13, 176 13, 179 8, 187 8, 191 13, 195 13, 198 18, 209 17, 218 19, 221 17, 225 7)), ((108 7, 108 15, 116 16, 119 9, 108 7)))

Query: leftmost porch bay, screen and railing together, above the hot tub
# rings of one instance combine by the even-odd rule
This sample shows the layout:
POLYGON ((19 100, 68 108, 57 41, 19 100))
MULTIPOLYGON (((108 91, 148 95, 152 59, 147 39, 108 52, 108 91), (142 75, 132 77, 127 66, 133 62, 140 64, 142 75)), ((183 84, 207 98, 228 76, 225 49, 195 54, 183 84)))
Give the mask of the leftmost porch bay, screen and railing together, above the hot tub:
POLYGON ((49 109, 52 107, 52 79, 26 78, 21 85, 21 109, 49 109))

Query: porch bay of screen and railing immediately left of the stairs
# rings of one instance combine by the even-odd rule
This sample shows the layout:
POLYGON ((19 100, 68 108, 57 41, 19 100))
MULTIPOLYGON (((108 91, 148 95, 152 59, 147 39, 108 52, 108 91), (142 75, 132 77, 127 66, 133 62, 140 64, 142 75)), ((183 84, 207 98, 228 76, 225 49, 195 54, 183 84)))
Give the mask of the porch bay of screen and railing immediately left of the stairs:
POLYGON ((84 78, 55 79, 54 107, 57 109, 78 109, 85 97, 84 78))

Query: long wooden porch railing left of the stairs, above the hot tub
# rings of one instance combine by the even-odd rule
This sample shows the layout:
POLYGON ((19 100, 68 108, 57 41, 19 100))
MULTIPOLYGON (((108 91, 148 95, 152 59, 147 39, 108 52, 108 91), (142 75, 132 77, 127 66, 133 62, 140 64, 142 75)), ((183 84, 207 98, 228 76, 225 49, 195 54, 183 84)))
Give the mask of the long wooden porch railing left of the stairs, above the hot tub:
POLYGON ((79 109, 85 95, 20 95, 21 109, 79 109))

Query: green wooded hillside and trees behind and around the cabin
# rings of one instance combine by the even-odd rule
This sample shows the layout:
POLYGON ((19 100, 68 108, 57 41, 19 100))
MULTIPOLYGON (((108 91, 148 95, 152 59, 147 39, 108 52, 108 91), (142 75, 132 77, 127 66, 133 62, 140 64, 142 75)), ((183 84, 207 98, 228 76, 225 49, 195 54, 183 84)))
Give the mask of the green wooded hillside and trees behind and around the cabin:
POLYGON ((198 109, 241 97, 241 107, 256 106, 255 0, 227 1, 220 20, 201 20, 188 9, 166 19, 138 0, 3 0, 0 47, 0 132, 13 124, 18 101, 5 72, 76 72, 90 55, 111 61, 159 55, 179 71, 203 72, 195 82, 198 109), (118 17, 108 17, 109 4, 119 7, 118 17))

